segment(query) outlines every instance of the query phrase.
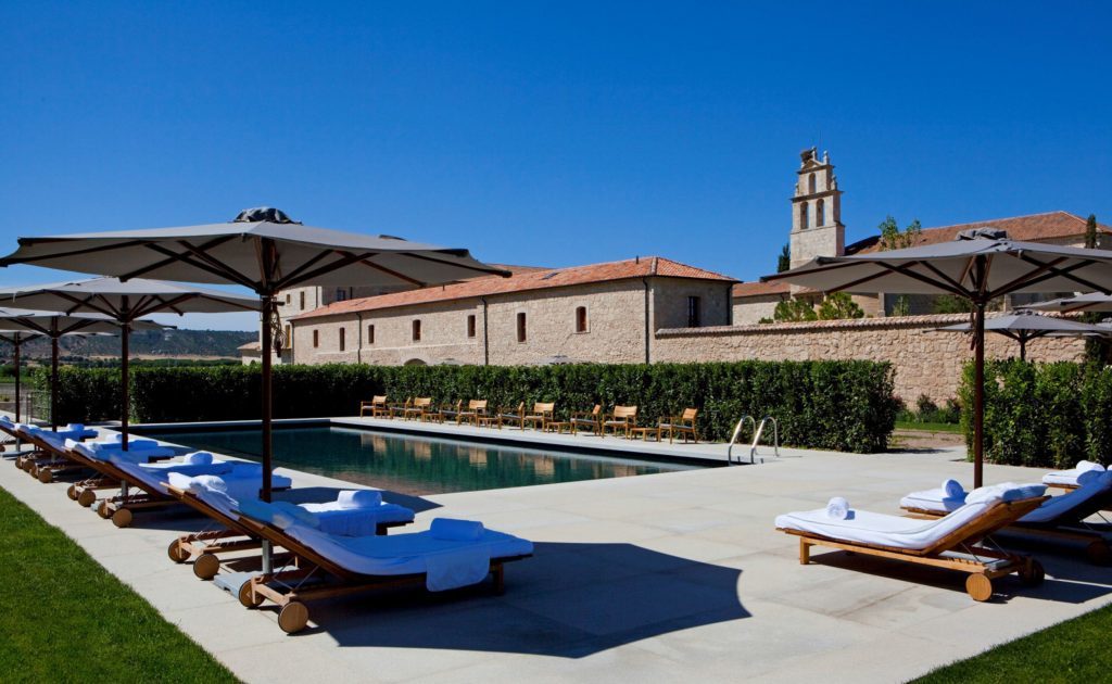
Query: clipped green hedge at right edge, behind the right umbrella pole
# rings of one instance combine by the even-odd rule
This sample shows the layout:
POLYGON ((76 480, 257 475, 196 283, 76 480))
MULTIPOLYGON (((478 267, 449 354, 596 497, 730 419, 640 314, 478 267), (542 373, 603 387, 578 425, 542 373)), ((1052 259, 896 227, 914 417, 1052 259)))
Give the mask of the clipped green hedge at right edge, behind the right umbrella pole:
MULTIPOLYGON (((984 378, 986 460, 1040 468, 1112 460, 1112 367, 1010 359, 986 361, 984 378)), ((960 391, 972 448, 972 364, 960 391)))

